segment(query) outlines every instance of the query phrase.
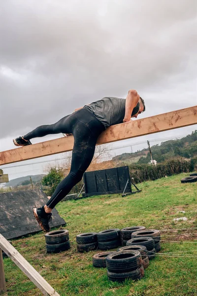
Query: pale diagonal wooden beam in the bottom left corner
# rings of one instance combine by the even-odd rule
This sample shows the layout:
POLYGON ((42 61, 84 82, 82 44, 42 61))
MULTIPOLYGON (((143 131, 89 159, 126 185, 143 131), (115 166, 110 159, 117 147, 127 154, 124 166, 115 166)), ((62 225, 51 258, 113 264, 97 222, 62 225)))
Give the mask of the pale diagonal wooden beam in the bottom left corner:
POLYGON ((45 296, 60 296, 33 266, 0 234, 0 248, 29 277, 45 296))

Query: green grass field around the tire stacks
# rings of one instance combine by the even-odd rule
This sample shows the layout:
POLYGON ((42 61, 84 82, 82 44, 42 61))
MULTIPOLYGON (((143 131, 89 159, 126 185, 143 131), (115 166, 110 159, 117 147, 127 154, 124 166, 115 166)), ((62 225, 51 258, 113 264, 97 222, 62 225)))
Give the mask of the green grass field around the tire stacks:
MULTIPOLYGON (((192 228, 197 227, 197 183, 181 184, 185 176, 144 182, 138 185, 142 192, 127 197, 102 195, 60 203, 57 210, 67 222, 69 251, 46 254, 43 232, 14 240, 13 246, 61 296, 197 296, 197 228, 192 228), (173 221, 180 217, 188 220, 173 221), (92 266, 98 251, 81 254, 76 250, 79 233, 134 225, 161 229, 160 253, 187 256, 160 255, 150 261, 140 281, 120 284, 108 281, 106 269, 92 266)), ((42 295, 9 258, 3 261, 8 296, 42 295)))

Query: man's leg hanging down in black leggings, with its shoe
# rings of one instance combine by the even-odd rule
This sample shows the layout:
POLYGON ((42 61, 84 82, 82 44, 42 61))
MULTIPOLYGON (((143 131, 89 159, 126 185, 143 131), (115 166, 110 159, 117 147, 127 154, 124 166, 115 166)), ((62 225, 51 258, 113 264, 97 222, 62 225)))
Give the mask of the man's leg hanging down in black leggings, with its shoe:
MULTIPOLYGON (((87 114, 85 114, 87 115, 87 114)), ((74 126, 72 134, 74 136, 74 147, 72 150, 72 161, 69 174, 60 182, 50 200, 42 208, 34 209, 34 216, 44 231, 49 231, 49 223, 45 220, 51 214, 52 209, 69 193, 83 177, 84 172, 89 167, 95 152, 95 146, 99 134, 103 131, 103 126, 97 119, 90 120, 91 125, 80 121, 74 126), (95 120, 95 122, 94 122, 95 120), (91 129, 92 131, 91 131, 91 129)))

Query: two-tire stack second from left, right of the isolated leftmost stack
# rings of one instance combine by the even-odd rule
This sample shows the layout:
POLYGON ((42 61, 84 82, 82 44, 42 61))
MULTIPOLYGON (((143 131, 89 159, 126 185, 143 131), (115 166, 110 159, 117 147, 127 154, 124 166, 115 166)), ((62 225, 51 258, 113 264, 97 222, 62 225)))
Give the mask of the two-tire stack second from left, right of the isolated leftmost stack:
POLYGON ((97 232, 87 232, 77 234, 77 250, 80 253, 94 251, 98 249, 97 232))

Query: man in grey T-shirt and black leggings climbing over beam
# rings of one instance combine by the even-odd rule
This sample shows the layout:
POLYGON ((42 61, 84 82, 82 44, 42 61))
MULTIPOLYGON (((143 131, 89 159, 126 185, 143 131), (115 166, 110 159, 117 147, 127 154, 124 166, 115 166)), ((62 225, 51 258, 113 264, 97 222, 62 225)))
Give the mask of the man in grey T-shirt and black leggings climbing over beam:
POLYGON ((136 90, 131 89, 126 99, 105 97, 63 117, 54 124, 41 125, 27 135, 13 140, 16 146, 28 146, 32 144, 31 139, 49 134, 72 134, 74 137, 69 174, 57 186, 46 205, 33 209, 33 215, 42 230, 50 231, 51 211, 72 187, 81 181, 93 159, 101 132, 111 125, 128 122, 131 117, 137 118, 138 114, 144 111, 144 100, 136 90))

